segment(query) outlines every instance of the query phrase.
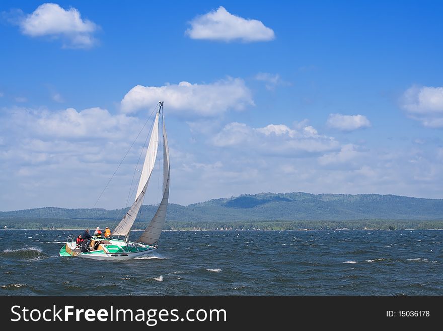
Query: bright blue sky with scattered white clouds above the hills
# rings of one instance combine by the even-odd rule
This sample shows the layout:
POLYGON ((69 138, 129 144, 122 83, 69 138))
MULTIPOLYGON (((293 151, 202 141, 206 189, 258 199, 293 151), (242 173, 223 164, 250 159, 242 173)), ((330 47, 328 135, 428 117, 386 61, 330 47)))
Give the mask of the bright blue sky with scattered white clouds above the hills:
MULTIPOLYGON (((0 210, 92 207, 160 98, 172 203, 443 198, 440 1, 2 1, 0 14, 0 210)), ((143 142, 98 207, 125 206, 143 142)))

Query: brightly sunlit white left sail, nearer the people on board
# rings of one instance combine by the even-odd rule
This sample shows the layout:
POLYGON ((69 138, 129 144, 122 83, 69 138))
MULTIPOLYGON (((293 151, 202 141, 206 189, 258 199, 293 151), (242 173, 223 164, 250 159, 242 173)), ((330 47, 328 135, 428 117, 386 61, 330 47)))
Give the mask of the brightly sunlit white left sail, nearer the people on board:
POLYGON ((116 226, 111 233, 112 236, 127 236, 134 224, 141 204, 143 203, 144 194, 146 193, 147 184, 151 178, 151 174, 154 170, 154 165, 157 157, 157 150, 159 147, 159 113, 156 114, 154 121, 151 138, 146 151, 146 157, 144 158, 143 168, 141 170, 140 180, 138 182, 137 194, 135 195, 135 201, 132 204, 129 211, 121 219, 120 223, 116 226))

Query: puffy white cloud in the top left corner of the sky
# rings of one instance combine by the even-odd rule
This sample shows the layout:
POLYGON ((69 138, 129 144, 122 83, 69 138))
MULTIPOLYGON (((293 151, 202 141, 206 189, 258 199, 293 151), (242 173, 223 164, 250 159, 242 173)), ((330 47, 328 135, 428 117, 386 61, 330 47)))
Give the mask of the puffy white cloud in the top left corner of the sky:
POLYGON ((65 10, 57 4, 43 4, 18 24, 25 35, 62 39, 63 47, 89 48, 96 42, 92 34, 97 30, 97 25, 82 19, 75 8, 65 10))

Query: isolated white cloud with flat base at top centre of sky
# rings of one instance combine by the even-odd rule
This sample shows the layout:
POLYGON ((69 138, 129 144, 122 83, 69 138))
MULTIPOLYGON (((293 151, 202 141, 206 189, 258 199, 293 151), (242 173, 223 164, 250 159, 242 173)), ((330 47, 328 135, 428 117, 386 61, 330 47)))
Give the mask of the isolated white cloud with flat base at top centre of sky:
POLYGON ((195 17, 190 24, 191 28, 185 34, 192 39, 253 42, 275 38, 274 31, 261 21, 232 15, 221 6, 216 11, 195 17))

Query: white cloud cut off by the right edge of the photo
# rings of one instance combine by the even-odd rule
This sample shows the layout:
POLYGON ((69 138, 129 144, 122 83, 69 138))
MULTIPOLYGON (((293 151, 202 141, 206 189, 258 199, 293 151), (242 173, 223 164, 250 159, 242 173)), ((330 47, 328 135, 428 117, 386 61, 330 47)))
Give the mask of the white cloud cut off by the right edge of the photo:
POLYGON ((408 117, 427 127, 443 127, 443 87, 412 86, 400 98, 408 117))

